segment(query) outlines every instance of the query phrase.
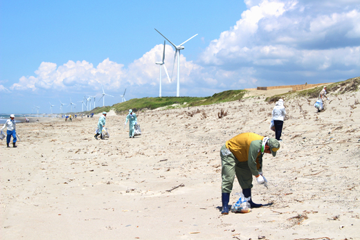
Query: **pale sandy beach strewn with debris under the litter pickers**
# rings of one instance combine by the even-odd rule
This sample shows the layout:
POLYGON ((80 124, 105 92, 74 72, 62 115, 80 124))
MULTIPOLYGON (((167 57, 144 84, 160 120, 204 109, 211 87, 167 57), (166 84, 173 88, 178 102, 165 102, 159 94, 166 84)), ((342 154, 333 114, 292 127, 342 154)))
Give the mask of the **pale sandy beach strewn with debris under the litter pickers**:
MULTIPOLYGON (((93 138, 100 115, 17 124, 18 147, 0 146, 0 238, 360 239, 360 93, 330 94, 321 113, 285 99, 269 189, 253 180, 253 201, 273 204, 221 214, 219 150, 239 133, 274 137, 264 98, 138 112, 136 138, 114 112, 105 140, 93 138)), ((237 192, 235 178, 230 203, 237 192)))

